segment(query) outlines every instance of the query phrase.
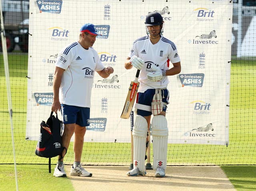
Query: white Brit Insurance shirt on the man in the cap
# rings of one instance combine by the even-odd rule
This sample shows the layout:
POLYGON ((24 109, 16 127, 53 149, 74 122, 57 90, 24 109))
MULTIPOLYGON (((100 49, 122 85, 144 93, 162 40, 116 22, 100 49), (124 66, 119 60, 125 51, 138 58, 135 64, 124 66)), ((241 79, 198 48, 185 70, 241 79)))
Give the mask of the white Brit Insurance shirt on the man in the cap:
POLYGON ((92 47, 86 50, 74 42, 60 51, 56 66, 65 70, 60 84, 60 103, 90 107, 95 72, 104 69, 96 50, 92 47))

